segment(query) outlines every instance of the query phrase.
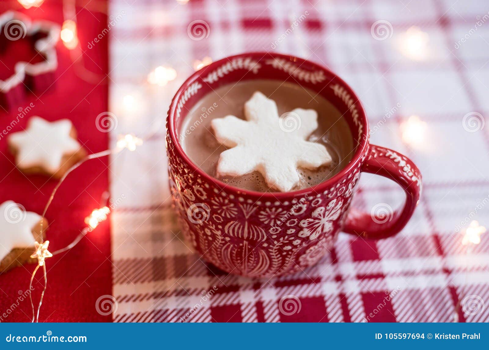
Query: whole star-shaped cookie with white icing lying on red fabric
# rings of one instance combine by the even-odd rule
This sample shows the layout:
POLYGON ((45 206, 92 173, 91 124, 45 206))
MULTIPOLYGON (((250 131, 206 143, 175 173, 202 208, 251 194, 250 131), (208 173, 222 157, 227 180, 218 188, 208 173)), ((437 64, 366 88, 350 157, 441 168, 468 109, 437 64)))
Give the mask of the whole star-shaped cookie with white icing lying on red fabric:
POLYGON ((67 119, 50 123, 32 117, 27 129, 8 137, 8 145, 17 167, 24 173, 43 173, 54 178, 61 178, 86 155, 67 119))

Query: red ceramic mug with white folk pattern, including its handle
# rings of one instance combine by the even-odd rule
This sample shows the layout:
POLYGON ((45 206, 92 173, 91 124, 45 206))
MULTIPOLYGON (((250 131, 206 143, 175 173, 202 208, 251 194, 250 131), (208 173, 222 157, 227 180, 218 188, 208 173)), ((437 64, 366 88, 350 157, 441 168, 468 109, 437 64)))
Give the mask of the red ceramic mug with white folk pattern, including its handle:
POLYGON ((416 165, 393 150, 369 144, 367 117, 350 86, 328 69, 297 57, 244 53, 211 63, 178 89, 167 130, 170 186, 182 232, 205 260, 229 273, 272 277, 299 271, 328 253, 340 231, 367 239, 395 235, 420 198, 416 165), (208 92, 253 79, 300 84, 333 103, 357 145, 350 163, 319 185, 282 193, 244 190, 203 172, 179 144, 182 120, 208 92), (350 208, 361 172, 397 182, 406 193, 404 206, 393 213, 350 208))

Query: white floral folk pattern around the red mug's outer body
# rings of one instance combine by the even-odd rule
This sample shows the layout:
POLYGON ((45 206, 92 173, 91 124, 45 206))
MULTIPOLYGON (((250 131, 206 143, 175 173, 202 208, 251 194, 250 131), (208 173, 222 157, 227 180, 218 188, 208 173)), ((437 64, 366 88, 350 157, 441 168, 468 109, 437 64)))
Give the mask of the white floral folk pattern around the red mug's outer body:
POLYGON ((338 189, 354 188, 359 172, 356 168, 346 181, 324 194, 304 194, 284 203, 235 197, 220 188, 201 185, 199 175, 173 166, 178 173, 170 172, 170 185, 177 207, 182 208, 179 216, 185 238, 218 268, 251 277, 298 271, 326 254, 352 194, 345 190, 339 196, 338 189), (207 203, 211 215, 191 224, 183 213, 197 202, 207 203), (309 247, 315 240, 318 244, 309 247))

